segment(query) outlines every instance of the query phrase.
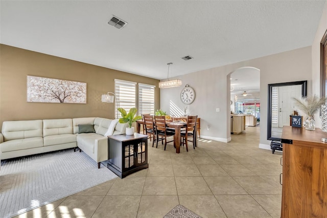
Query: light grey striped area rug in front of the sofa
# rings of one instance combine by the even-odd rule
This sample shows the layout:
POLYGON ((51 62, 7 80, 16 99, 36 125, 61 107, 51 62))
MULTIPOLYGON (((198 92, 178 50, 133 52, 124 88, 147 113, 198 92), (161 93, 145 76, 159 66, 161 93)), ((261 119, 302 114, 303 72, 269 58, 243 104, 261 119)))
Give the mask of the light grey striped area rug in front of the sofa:
POLYGON ((12 217, 117 178, 73 149, 1 162, 0 217, 12 217))

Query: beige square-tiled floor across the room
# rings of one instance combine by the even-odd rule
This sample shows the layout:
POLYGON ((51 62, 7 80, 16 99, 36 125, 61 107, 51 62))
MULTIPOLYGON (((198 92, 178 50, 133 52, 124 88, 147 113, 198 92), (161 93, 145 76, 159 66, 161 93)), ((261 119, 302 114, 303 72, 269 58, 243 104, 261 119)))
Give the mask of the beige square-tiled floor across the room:
POLYGON ((282 153, 258 148, 259 127, 231 138, 180 154, 149 146, 148 169, 17 217, 162 217, 178 204, 202 217, 280 217, 282 153))

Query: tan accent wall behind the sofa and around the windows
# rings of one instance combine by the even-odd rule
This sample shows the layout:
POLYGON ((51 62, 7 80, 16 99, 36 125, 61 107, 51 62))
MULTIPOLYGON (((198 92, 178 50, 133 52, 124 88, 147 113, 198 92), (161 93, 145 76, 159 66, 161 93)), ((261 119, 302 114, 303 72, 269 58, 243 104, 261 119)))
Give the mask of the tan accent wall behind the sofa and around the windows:
POLYGON ((114 79, 155 85, 155 108, 160 106, 157 79, 6 45, 0 45, 0 64, 0 128, 5 120, 113 119, 114 104, 101 102, 101 95, 114 92, 114 79), (27 75, 86 82, 87 103, 27 103, 27 75))

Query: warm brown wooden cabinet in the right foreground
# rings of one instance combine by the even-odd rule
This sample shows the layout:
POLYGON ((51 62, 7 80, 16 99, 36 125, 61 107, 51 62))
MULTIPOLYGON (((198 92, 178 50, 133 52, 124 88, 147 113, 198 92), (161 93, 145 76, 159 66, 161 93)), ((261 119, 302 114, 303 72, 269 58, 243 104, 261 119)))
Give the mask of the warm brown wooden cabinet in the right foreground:
POLYGON ((281 217, 327 217, 327 133, 283 127, 281 217))

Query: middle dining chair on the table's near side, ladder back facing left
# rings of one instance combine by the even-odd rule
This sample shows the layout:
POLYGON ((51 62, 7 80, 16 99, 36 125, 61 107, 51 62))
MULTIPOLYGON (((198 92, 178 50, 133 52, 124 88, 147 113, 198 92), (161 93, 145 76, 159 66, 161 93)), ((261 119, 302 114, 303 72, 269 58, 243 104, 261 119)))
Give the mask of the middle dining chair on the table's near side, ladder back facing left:
POLYGON ((166 150, 166 145, 169 142, 174 142, 174 147, 175 147, 175 132, 169 131, 166 128, 166 118, 165 116, 154 116, 154 124, 155 124, 155 132, 156 132, 156 142, 158 147, 158 142, 161 141, 161 143, 165 140, 165 149, 166 150), (172 141, 167 141, 167 137, 169 136, 174 136, 172 141), (160 137, 160 139, 159 139, 160 137))

